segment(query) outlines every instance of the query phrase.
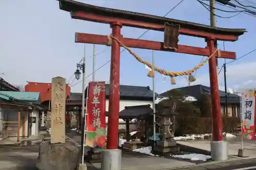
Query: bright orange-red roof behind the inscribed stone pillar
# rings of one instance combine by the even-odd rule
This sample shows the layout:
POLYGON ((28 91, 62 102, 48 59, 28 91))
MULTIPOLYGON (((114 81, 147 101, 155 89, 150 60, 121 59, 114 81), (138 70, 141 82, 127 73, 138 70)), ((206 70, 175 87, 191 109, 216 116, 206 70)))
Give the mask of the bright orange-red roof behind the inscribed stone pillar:
MULTIPOLYGON (((51 83, 38 83, 28 82, 25 86, 27 92, 40 92, 41 102, 50 101, 52 96, 52 84, 51 83)), ((69 84, 66 85, 66 99, 70 95, 71 87, 69 84)))

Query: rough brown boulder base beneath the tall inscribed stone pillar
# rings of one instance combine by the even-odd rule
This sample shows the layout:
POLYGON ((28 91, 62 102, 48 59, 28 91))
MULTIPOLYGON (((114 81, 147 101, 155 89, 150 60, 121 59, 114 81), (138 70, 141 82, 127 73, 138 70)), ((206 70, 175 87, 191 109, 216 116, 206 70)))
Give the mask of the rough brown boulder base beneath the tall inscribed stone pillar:
POLYGON ((72 142, 42 142, 36 167, 39 170, 74 170, 78 168, 80 150, 72 142))

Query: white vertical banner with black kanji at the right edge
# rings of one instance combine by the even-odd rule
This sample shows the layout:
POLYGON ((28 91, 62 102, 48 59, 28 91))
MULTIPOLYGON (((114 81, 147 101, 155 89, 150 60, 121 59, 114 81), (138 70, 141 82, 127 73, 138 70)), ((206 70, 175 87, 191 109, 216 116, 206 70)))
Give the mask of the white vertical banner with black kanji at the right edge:
POLYGON ((243 90, 241 93, 242 137, 253 140, 255 136, 254 125, 255 92, 243 90))

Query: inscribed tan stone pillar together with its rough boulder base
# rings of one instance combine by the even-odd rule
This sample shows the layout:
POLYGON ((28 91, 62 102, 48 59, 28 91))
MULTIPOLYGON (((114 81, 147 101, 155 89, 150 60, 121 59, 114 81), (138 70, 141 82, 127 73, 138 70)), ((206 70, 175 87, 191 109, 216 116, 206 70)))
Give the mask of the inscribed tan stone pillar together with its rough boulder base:
POLYGON ((79 164, 79 148, 65 142, 66 79, 52 79, 51 141, 42 142, 36 167, 40 170, 74 170, 79 164))

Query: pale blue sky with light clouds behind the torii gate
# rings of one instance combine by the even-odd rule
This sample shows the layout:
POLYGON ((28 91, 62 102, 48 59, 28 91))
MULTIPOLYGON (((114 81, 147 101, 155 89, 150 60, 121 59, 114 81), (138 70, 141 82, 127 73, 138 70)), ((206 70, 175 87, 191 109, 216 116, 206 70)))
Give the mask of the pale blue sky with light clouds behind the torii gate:
MULTIPOLYGON (((92 5, 116 8, 140 13, 163 16, 177 5, 180 0, 106 0, 79 2, 92 5), (161 3, 160 3, 161 2, 161 3)), ((207 1, 204 1, 208 4, 207 1)), ((248 4, 246 0, 240 2, 248 4)), ((223 10, 231 10, 227 7, 216 5, 223 10)), ((216 11, 221 16, 232 16, 234 13, 216 11)), ((185 21, 198 22, 209 25, 209 12, 196 0, 185 0, 167 17, 185 21)), ((109 25, 71 19, 68 12, 59 9, 58 2, 53 0, 1 0, 0 1, 0 72, 11 84, 25 85, 26 81, 51 82, 52 77, 61 76, 71 83, 71 78, 76 70, 76 63, 83 57, 82 43, 75 43, 75 32, 108 35, 111 33, 109 25), (71 80, 69 81, 69 79, 71 80)), ((256 18, 244 13, 232 18, 217 17, 217 26, 223 28, 245 28, 247 33, 236 42, 226 42, 227 51, 237 53, 237 57, 246 54, 256 48, 255 29, 256 18)), ((145 30, 123 27, 121 33, 124 37, 138 38, 145 30)), ((141 39, 163 41, 163 33, 148 31, 141 39)), ((179 37, 180 44, 205 47, 204 39, 188 36, 179 37)), ((223 42, 219 41, 219 48, 223 49, 223 42)), ((96 45, 96 53, 104 53, 96 57, 96 68, 110 60, 111 47, 96 45)), ((133 49, 141 58, 152 61, 152 51, 133 49)), ((93 45, 86 44, 86 75, 92 73, 93 45)), ((255 53, 232 62, 227 65, 227 80, 230 88, 255 88, 256 86, 256 59, 255 53)), ((193 68, 201 61, 202 57, 170 52, 155 52, 156 66, 169 71, 182 71, 193 68)), ((224 59, 219 60, 219 66, 224 59)), ((120 83, 123 85, 138 85, 152 87, 152 79, 148 78, 145 66, 139 63, 128 52, 121 54, 120 83)), ((97 81, 109 81, 110 63, 96 72, 97 81)), ((224 85, 223 73, 220 74, 219 84, 224 85)), ((208 64, 197 71, 194 84, 209 85, 208 64)), ((90 76, 86 82, 92 80, 90 76)), ((170 85, 167 78, 163 83, 163 77, 156 74, 156 91, 164 92, 171 88, 186 86, 186 78, 176 78, 177 85, 170 85)), ((74 80, 72 84, 77 81, 74 80)), ((72 85, 71 84, 71 85, 72 85)), ((73 92, 81 92, 82 84, 72 87, 73 92)))

